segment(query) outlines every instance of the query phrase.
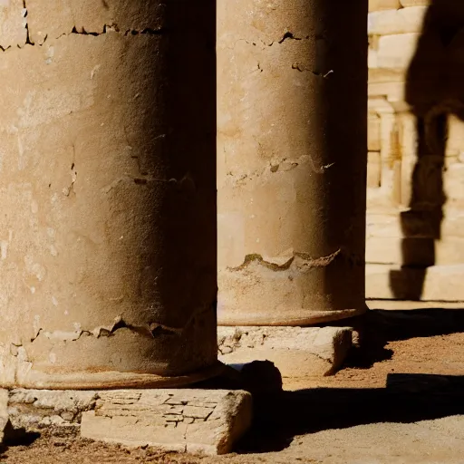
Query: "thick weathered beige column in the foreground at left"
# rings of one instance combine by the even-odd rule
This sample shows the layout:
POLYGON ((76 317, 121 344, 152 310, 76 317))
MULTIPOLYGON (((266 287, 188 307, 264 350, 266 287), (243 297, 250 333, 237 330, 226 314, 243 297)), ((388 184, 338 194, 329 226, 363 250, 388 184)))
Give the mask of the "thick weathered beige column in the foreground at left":
POLYGON ((65 4, 0 4, 0 385, 205 378, 215 2, 65 4))

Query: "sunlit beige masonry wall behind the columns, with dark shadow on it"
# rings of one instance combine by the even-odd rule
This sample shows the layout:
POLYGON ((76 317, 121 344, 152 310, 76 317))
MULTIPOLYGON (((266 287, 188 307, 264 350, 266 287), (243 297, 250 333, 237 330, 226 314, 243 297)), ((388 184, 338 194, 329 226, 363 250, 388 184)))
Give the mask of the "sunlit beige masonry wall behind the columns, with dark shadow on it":
POLYGON ((368 298, 464 300, 460 3, 370 1, 368 298))

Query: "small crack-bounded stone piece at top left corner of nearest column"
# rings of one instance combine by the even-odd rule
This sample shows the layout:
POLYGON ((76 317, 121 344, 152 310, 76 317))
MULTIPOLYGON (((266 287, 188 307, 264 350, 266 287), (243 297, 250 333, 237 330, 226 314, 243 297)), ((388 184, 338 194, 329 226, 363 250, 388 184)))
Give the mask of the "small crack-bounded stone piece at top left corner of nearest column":
POLYGON ((0 47, 24 46, 27 39, 27 10, 23 0, 0 2, 0 47))

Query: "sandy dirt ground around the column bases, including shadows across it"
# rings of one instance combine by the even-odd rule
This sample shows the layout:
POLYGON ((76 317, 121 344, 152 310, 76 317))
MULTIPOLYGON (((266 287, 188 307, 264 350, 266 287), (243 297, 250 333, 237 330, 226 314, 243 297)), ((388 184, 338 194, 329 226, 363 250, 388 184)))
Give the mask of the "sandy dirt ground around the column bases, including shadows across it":
POLYGON ((436 306, 372 311, 341 372, 284 379, 284 392, 256 399, 256 423, 234 454, 125 449, 62 432, 10 443, 0 464, 462 464, 464 309, 436 306))

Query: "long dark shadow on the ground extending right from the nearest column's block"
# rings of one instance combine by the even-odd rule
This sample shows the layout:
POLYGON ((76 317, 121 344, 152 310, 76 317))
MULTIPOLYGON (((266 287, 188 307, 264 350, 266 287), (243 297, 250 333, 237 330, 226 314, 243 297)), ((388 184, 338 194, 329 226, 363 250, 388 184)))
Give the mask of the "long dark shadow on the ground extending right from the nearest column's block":
POLYGON ((464 414, 463 400, 464 377, 406 374, 391 374, 384 389, 314 389, 257 396, 253 428, 237 451, 280 451, 296 436, 321 430, 464 414), (417 387, 419 381, 422 388, 417 387), (412 386, 417 392, 411 392, 412 386))

